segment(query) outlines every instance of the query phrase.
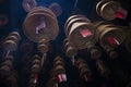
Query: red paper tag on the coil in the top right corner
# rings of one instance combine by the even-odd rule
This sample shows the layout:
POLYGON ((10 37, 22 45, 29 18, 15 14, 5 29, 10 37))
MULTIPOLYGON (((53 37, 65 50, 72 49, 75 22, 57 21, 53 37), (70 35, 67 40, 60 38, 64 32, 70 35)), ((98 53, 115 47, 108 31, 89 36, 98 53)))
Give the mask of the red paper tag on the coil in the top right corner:
POLYGON ((116 11, 116 16, 119 17, 119 18, 126 18, 128 15, 128 11, 122 9, 122 8, 119 8, 117 11, 116 11))

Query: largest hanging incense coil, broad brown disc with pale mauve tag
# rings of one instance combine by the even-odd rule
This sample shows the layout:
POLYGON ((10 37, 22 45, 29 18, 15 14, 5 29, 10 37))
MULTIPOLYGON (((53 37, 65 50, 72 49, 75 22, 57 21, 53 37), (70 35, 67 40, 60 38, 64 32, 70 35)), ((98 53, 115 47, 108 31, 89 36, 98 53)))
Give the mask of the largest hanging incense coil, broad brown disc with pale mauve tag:
POLYGON ((55 14, 49 9, 41 7, 33 9, 27 14, 23 27, 25 35, 35 42, 41 39, 53 40, 59 33, 55 14))

